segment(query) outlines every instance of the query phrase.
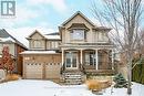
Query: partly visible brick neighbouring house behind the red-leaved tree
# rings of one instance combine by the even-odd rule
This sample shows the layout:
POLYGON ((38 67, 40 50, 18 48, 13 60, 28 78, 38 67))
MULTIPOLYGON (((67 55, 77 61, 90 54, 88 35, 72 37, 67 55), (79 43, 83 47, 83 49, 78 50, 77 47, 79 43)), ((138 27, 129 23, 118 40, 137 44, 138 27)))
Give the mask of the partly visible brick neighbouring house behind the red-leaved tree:
MULTIPOLYGON (((10 54, 14 57, 14 73, 22 75, 22 56, 19 53, 27 50, 17 39, 10 35, 4 29, 0 30, 0 57, 2 57, 3 46, 9 46, 10 54)), ((1 61, 1 58, 0 58, 1 61)))

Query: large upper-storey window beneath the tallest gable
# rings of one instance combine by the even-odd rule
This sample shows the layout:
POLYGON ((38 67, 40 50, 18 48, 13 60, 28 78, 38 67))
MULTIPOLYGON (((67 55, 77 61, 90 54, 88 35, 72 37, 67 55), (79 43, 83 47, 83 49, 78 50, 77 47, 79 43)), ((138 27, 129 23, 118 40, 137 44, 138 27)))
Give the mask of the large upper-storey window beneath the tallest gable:
POLYGON ((71 40, 84 40, 84 30, 72 30, 71 40))

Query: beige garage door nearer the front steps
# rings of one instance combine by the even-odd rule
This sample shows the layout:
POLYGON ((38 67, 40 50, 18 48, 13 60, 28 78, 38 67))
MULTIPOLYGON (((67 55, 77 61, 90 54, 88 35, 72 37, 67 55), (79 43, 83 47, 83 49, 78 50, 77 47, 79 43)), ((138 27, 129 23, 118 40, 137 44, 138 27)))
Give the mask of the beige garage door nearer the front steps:
POLYGON ((47 63, 45 64, 45 78, 59 78, 60 77, 60 63, 47 63))

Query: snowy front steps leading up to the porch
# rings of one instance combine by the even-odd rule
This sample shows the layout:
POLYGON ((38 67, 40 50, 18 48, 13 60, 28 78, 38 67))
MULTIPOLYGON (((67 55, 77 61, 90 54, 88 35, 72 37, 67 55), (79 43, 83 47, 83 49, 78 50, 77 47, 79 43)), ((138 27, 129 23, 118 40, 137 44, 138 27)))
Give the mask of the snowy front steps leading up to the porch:
POLYGON ((64 72, 63 77, 65 85, 80 85, 83 83, 82 72, 64 72))

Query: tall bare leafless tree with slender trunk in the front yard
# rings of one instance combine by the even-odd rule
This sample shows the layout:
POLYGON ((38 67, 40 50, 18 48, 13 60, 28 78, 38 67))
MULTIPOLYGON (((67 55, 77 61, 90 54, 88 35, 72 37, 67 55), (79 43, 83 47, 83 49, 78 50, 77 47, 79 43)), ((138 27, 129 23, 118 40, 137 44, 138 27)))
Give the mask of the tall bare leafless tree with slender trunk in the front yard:
POLYGON ((109 25, 113 29, 110 36, 113 39, 119 51, 125 52, 127 64, 127 94, 132 94, 132 60, 133 53, 142 36, 140 35, 141 19, 143 13, 142 0, 101 0, 101 9, 96 0, 92 1, 92 13, 101 25, 109 25))

